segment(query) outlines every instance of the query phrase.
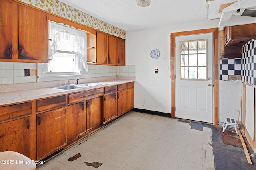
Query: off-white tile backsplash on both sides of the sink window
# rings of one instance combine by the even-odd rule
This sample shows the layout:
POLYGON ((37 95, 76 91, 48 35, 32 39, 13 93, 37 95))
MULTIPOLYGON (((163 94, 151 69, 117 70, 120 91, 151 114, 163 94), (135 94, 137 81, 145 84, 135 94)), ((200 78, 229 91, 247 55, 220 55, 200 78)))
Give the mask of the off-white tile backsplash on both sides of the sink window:
MULTIPOLYGON (((106 76, 135 76, 135 65, 106 66, 88 65, 88 78, 106 76)), ((0 84, 18 84, 37 82, 36 63, 0 62, 0 84), (24 69, 30 69, 25 77, 24 69)))

